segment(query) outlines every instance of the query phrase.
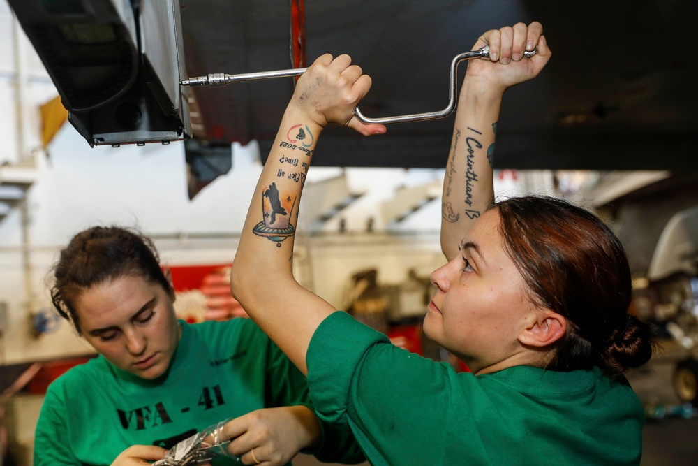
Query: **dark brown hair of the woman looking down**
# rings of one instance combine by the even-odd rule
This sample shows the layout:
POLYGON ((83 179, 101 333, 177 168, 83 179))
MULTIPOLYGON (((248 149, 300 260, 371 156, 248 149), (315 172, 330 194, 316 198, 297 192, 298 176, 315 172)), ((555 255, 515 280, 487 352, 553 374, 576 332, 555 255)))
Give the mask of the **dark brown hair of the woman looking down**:
POLYGON ((153 242, 138 231, 118 226, 94 226, 77 233, 52 268, 51 300, 57 312, 73 323, 80 322, 75 299, 92 286, 119 277, 142 277, 159 284, 174 298, 172 285, 160 266, 153 242))

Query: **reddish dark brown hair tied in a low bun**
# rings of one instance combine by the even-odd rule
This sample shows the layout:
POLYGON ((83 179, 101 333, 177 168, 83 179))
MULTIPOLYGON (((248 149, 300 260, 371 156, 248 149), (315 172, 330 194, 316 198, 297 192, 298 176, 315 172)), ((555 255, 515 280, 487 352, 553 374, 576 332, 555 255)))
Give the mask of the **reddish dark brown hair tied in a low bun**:
POLYGON ((628 314, 628 257, 595 214, 546 196, 510 198, 493 206, 507 254, 530 298, 567 319, 550 370, 600 367, 618 377, 652 356, 649 326, 628 314))

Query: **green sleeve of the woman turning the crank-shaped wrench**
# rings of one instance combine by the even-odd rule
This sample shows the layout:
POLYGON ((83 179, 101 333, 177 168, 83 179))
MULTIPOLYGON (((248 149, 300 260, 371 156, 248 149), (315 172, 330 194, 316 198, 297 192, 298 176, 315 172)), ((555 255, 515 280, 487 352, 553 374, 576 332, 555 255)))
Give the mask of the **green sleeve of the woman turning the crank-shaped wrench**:
POLYGON ((373 464, 439 464, 455 372, 389 343, 346 312, 322 321, 306 356, 320 418, 348 424, 373 464), (436 413, 436 415, 435 415, 436 413), (428 442, 415 442, 419 437, 428 442))

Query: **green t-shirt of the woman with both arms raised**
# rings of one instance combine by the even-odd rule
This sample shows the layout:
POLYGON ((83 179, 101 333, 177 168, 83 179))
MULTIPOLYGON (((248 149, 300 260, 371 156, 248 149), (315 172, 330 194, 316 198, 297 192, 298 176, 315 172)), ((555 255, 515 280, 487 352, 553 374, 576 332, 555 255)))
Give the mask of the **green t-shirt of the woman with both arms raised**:
POLYGON ((644 410, 601 370, 456 373, 335 312, 306 357, 321 418, 372 465, 638 465, 644 410))

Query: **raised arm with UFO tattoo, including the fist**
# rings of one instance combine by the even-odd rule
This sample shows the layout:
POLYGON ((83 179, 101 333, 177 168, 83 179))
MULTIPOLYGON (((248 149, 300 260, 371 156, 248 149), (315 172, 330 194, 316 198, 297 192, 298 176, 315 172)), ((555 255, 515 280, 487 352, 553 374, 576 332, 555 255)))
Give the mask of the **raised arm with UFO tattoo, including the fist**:
POLYGON ((354 118, 354 109, 370 87, 371 78, 352 66, 348 55, 323 55, 299 78, 252 196, 232 264, 233 296, 304 374, 311 337, 335 308, 292 275, 301 192, 327 124, 350 126, 366 136, 385 133, 383 125, 364 125, 354 118))

